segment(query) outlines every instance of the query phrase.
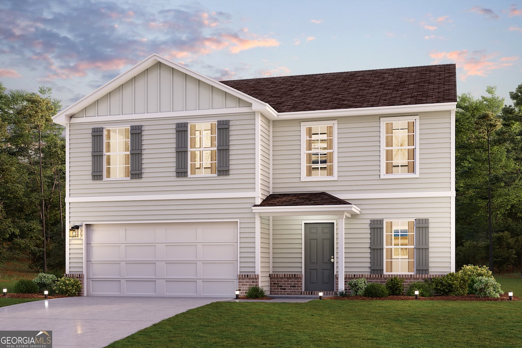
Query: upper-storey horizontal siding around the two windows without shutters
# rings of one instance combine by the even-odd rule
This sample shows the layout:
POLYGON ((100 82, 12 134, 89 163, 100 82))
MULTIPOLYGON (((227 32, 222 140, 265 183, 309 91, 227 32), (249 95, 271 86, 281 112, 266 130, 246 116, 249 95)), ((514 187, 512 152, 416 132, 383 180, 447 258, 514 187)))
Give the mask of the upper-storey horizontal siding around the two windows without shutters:
POLYGON ((419 113, 420 177, 416 178, 380 178, 380 118, 384 116, 336 118, 337 180, 321 182, 300 180, 300 121, 273 121, 272 187, 274 193, 317 190, 317 186, 320 186, 322 191, 337 196, 383 194, 395 191, 450 191, 449 111, 419 113))

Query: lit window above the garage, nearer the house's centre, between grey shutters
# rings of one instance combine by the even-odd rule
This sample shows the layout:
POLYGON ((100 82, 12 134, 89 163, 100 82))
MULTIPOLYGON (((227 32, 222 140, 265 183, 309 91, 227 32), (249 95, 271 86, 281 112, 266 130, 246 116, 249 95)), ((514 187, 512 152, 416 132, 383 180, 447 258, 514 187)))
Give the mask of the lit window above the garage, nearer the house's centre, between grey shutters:
POLYGON ((193 123, 190 127, 190 175, 216 175, 216 123, 193 123))

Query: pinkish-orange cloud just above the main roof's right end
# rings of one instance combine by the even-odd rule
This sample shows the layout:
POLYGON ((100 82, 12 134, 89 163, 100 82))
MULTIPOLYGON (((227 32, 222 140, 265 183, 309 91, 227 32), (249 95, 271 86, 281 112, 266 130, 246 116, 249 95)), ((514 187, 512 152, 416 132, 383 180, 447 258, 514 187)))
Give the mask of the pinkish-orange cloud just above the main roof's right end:
POLYGON ((433 64, 444 61, 453 62, 457 68, 463 70, 459 75, 462 81, 469 76, 488 76, 493 70, 502 69, 514 65, 520 57, 501 57, 496 59, 497 53, 485 54, 483 51, 468 52, 467 50, 452 52, 431 52, 430 56, 435 59, 433 64))

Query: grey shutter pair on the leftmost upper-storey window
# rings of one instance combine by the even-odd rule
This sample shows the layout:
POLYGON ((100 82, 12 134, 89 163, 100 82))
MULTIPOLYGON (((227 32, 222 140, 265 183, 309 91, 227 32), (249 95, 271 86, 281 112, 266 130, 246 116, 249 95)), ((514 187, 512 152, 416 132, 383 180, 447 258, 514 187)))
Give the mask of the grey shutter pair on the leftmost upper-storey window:
MULTIPOLYGON (((92 179, 103 180, 103 127, 92 128, 92 179)), ((131 179, 141 178, 141 126, 131 126, 131 179)))

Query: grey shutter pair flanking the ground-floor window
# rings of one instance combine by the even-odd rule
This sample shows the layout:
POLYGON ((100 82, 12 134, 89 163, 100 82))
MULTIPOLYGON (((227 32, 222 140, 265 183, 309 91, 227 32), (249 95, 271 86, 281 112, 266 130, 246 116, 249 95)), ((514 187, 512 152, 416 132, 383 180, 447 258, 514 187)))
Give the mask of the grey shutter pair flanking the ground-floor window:
MULTIPOLYGON (((384 220, 370 220, 370 273, 384 273, 384 220)), ((415 270, 429 273, 429 219, 415 219, 415 270)))

